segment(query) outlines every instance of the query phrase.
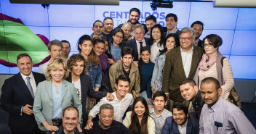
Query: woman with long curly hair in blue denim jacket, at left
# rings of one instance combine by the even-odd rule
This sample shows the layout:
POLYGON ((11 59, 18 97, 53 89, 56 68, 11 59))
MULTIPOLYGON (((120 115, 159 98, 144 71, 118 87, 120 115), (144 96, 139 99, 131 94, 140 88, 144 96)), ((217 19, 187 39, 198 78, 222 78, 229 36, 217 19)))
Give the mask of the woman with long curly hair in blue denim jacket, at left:
MULTIPOLYGON (((87 67, 86 74, 89 75, 89 78, 92 80, 92 87, 95 91, 99 91, 102 73, 100 66, 100 58, 95 54, 95 51, 92 50, 92 39, 89 35, 82 35, 79 38, 78 47, 79 54, 84 56, 85 63, 84 67, 87 67)), ((92 109, 92 106, 96 103, 96 99, 87 99, 87 112, 92 109)))

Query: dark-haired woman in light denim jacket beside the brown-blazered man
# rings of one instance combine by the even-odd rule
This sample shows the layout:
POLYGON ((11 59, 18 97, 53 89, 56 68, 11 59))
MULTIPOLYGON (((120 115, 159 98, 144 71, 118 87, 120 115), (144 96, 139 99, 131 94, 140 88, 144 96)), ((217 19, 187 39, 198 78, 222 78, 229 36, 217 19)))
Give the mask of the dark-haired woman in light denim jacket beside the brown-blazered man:
POLYGON ((162 78, 164 73, 164 64, 166 54, 174 49, 176 46, 180 46, 180 41, 178 35, 175 33, 169 33, 164 40, 164 49, 159 51, 156 57, 155 67, 153 68, 153 75, 151 79, 151 91, 155 93, 156 91, 161 91, 162 88, 162 78))

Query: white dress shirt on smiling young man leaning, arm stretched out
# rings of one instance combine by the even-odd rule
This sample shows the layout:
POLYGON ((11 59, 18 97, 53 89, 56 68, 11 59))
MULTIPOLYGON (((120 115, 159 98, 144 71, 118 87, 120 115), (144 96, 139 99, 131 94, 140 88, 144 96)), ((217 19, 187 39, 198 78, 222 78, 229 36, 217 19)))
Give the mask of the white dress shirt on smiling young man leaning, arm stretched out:
POLYGON ((133 96, 131 93, 127 93, 124 96, 124 99, 119 101, 116 97, 116 92, 111 93, 114 96, 113 101, 108 101, 106 97, 103 99, 100 99, 100 102, 97 103, 97 105, 93 106, 91 111, 89 111, 88 116, 92 116, 93 118, 100 112, 100 106, 103 104, 111 104, 113 106, 113 120, 122 122, 122 117, 124 116, 124 113, 127 111, 129 106, 132 106, 133 103, 133 96))

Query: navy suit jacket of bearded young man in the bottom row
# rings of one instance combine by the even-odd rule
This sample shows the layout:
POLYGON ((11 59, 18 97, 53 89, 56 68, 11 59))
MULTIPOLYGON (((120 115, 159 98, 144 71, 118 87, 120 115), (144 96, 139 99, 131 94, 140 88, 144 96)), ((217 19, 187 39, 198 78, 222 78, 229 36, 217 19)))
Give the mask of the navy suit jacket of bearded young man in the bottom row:
MULTIPOLYGON (((194 117, 188 117, 187 134, 199 133, 199 120, 194 117)), ((180 134, 179 128, 173 117, 167 117, 161 134, 180 134)))

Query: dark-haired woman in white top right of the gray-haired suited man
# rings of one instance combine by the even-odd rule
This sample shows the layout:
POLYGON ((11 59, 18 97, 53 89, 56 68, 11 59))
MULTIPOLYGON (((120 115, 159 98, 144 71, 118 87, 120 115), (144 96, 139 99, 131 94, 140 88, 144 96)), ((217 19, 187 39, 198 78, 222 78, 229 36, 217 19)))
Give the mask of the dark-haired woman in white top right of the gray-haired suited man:
POLYGON ((161 25, 156 24, 151 28, 151 38, 149 39, 151 45, 151 62, 156 62, 156 56, 160 50, 164 49, 164 29, 161 25))

